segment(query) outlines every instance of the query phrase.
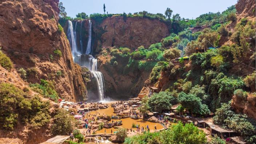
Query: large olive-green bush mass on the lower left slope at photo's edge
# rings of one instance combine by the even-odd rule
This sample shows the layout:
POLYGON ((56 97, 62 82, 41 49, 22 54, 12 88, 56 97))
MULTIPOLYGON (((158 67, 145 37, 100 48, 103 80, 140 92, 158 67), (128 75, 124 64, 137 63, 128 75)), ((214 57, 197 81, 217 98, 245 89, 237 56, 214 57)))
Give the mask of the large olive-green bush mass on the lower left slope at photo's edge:
POLYGON ((0 127, 13 130, 18 120, 31 127, 49 123, 49 102, 39 97, 29 98, 27 93, 12 84, 0 84, 0 127))

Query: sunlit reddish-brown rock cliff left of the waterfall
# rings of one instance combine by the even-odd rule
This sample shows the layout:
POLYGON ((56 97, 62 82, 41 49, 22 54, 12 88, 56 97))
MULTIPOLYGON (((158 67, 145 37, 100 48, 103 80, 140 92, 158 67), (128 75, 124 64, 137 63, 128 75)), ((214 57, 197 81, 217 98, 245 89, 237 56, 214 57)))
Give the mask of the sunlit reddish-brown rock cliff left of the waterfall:
POLYGON ((54 80, 60 97, 77 101, 86 97, 81 68, 73 63, 69 42, 58 29, 59 0, 1 0, 0 47, 15 68, 31 71, 28 82, 54 80), (62 56, 53 51, 59 49, 62 56), (63 73, 57 76, 57 71, 63 73))

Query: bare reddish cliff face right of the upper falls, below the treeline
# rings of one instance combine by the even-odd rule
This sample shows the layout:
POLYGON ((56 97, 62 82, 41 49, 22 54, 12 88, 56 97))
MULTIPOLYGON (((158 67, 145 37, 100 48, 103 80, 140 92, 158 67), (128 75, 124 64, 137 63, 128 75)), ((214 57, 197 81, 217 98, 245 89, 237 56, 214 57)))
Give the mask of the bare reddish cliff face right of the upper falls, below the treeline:
POLYGON ((149 47, 169 35, 167 25, 157 19, 140 17, 124 19, 123 16, 112 16, 104 19, 99 25, 95 25, 95 21, 93 24, 96 52, 99 52, 101 47, 111 46, 149 47))

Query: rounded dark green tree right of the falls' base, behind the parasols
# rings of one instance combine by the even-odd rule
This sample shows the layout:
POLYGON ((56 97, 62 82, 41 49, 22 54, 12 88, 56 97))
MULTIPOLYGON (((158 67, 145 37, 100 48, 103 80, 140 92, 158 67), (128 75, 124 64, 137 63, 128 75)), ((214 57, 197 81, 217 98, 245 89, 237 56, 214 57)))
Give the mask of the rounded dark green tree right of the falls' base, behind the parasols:
POLYGON ((172 104, 176 104, 177 100, 170 92, 154 93, 152 97, 148 99, 148 105, 151 111, 163 112, 169 110, 172 104))

